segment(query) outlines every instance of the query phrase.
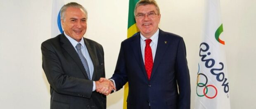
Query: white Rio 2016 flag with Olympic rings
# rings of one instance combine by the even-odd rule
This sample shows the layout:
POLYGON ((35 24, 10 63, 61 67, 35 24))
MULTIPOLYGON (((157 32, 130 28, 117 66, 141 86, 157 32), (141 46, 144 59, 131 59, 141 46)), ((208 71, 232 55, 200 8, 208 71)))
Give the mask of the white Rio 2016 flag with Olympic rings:
POLYGON ((199 48, 199 63, 195 109, 230 109, 230 95, 225 42, 220 35, 220 1, 205 1, 203 41, 199 48))

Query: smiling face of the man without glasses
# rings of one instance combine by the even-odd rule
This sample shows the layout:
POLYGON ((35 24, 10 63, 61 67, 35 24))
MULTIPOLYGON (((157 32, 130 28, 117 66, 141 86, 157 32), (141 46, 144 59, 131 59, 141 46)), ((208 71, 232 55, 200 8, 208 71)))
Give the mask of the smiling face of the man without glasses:
POLYGON ((62 19, 62 27, 65 33, 80 42, 86 32, 86 14, 83 9, 68 7, 62 19))

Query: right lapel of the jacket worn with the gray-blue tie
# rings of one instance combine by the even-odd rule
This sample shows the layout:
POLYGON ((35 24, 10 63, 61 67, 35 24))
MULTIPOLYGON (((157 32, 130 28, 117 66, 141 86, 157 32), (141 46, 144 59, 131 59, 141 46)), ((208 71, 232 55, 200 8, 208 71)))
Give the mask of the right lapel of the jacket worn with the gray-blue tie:
POLYGON ((83 38, 84 42, 85 42, 85 45, 86 45, 86 48, 88 50, 88 53, 90 55, 90 58, 92 59, 92 64, 93 64, 93 73, 92 73, 92 80, 95 79, 95 70, 96 70, 96 55, 95 52, 92 50, 92 44, 89 43, 89 41, 86 39, 86 38, 83 38))

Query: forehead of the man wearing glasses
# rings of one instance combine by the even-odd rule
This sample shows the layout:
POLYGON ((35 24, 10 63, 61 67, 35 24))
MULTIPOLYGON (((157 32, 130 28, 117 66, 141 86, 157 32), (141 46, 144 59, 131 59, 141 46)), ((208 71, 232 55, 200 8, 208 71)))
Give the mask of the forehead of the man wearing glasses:
POLYGON ((157 12, 155 5, 140 5, 136 9, 136 13, 147 13, 147 12, 157 12))

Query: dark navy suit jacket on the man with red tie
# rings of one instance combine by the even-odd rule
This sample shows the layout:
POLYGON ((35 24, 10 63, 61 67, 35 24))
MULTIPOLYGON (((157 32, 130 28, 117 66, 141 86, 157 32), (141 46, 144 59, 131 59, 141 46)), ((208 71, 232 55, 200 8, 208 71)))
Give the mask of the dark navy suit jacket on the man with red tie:
POLYGON ((116 89, 129 82, 128 109, 190 109, 190 75, 183 38, 159 29, 150 80, 140 47, 140 33, 124 40, 111 77, 116 89))

